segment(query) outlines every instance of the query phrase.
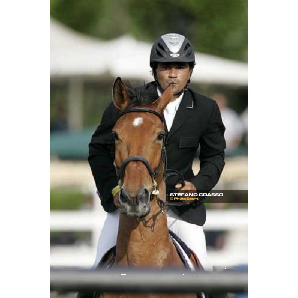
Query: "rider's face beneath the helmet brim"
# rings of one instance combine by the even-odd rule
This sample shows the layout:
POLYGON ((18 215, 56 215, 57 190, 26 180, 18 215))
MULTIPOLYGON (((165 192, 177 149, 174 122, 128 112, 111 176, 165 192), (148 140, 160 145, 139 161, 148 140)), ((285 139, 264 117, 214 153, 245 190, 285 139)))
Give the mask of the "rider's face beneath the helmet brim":
POLYGON ((192 70, 188 63, 158 63, 156 75, 163 90, 171 83, 174 83, 174 94, 180 92, 191 77, 192 70))

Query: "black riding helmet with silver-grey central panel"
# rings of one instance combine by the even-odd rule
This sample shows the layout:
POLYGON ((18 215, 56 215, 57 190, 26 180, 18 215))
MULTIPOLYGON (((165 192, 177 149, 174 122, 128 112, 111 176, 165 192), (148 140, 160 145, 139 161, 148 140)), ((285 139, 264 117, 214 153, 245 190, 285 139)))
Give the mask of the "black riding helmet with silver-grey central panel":
POLYGON ((154 43, 150 54, 150 66, 156 62, 195 63, 195 53, 190 41, 183 35, 168 33, 154 43))

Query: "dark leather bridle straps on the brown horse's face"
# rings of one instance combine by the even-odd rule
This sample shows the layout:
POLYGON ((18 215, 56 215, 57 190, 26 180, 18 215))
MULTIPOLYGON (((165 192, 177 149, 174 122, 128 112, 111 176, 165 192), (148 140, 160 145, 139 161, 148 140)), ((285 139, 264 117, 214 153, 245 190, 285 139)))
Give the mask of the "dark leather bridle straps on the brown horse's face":
MULTIPOLYGON (((117 120, 122 117, 125 114, 128 113, 135 113, 135 112, 143 112, 143 113, 151 113, 156 115, 161 122, 165 125, 165 119, 163 117, 163 115, 161 115, 160 113, 156 112, 155 110, 152 109, 146 109, 146 108, 128 108, 122 112, 119 113, 117 120)), ((158 175, 158 173, 160 172, 161 169, 161 163, 163 162, 164 165, 164 174, 163 174, 163 180, 165 181, 166 179, 166 168, 167 168, 167 158, 166 158, 166 136, 163 138, 163 144, 162 144, 162 149, 161 149, 161 157, 158 163, 158 166, 153 169, 149 163, 149 161, 141 156, 141 155, 133 155, 130 157, 127 157, 123 160, 122 165, 120 167, 116 167, 116 174, 118 176, 119 179, 119 185, 122 185, 122 181, 124 178, 124 173, 125 173, 125 168, 126 166, 132 162, 132 161, 141 161, 147 168, 151 178, 152 178, 152 182, 154 185, 154 190, 152 191, 152 193, 150 194, 150 200, 153 200, 154 196, 156 196, 157 198, 157 202, 161 208, 161 212, 163 214, 163 208, 164 208, 164 201, 162 201, 159 198, 159 190, 157 189, 157 182, 156 182, 156 177, 158 175)))

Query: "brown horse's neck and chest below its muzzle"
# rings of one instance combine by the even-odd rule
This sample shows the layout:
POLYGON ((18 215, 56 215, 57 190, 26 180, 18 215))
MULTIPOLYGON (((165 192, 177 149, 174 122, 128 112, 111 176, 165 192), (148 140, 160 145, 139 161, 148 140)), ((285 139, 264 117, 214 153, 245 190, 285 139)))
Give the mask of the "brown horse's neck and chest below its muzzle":
MULTIPOLYGON (((165 188, 160 189, 164 199, 165 188)), ((166 210, 161 213, 156 198, 151 202, 151 212, 144 221, 129 219, 121 214, 117 237, 116 263, 163 267, 172 260, 173 245, 169 238, 166 210)))

